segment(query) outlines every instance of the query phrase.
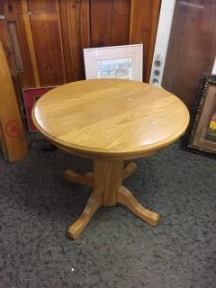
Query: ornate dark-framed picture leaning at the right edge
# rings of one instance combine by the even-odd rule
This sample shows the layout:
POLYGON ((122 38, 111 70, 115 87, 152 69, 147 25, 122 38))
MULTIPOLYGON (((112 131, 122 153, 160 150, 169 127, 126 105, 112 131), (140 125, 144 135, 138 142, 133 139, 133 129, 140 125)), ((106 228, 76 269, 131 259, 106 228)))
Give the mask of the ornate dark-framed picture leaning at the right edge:
POLYGON ((183 148, 216 158, 216 75, 203 75, 183 148))

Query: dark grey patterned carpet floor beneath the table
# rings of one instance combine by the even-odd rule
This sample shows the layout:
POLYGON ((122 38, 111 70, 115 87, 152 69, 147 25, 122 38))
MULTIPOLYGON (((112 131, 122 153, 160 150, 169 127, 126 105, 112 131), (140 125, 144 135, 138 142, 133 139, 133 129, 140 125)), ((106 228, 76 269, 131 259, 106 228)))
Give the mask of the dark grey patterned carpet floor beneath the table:
POLYGON ((158 227, 103 208, 73 241, 65 231, 90 190, 62 172, 91 161, 60 150, 31 150, 14 165, 0 157, 0 287, 216 287, 215 160, 176 143, 136 162, 124 184, 161 215, 158 227))

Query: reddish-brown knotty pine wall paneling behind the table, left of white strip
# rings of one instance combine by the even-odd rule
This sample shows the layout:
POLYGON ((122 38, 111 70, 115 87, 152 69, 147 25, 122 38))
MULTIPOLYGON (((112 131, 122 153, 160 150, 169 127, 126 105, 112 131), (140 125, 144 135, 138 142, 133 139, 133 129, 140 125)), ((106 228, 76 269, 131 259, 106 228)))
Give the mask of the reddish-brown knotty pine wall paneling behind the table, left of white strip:
POLYGON ((143 43, 148 82, 160 1, 0 0, 12 74, 21 88, 61 85, 85 78, 84 48, 143 43))

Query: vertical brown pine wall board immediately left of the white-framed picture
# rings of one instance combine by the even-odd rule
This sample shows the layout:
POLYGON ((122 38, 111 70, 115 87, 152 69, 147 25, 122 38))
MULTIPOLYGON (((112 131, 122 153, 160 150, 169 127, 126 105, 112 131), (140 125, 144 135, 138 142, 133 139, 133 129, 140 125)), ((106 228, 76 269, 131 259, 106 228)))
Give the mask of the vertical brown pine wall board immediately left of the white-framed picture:
POLYGON ((85 79, 83 49, 90 47, 89 9, 88 0, 59 2, 67 82, 85 79))

